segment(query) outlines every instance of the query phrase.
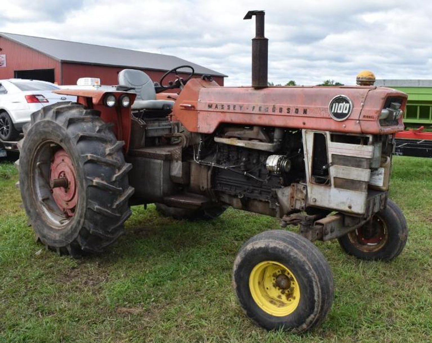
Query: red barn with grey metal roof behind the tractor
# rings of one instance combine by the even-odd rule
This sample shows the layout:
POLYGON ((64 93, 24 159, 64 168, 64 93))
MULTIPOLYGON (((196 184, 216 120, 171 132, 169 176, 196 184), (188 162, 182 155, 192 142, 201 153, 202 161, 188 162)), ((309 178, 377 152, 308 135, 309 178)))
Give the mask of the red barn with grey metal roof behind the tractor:
POLYGON ((184 64, 223 86, 226 75, 175 56, 0 32, 0 79, 74 85, 80 77, 98 77, 101 84, 115 85, 118 72, 125 68, 143 70, 159 81, 167 70, 184 64))

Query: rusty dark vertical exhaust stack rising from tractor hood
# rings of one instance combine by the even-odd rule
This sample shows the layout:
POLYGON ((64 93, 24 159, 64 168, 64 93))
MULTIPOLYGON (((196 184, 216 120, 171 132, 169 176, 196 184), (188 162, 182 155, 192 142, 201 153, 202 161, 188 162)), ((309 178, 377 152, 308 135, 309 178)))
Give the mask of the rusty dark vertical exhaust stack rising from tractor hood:
POLYGON ((264 37, 264 11, 249 11, 243 19, 255 16, 255 38, 252 38, 252 87, 268 86, 268 39, 264 37))

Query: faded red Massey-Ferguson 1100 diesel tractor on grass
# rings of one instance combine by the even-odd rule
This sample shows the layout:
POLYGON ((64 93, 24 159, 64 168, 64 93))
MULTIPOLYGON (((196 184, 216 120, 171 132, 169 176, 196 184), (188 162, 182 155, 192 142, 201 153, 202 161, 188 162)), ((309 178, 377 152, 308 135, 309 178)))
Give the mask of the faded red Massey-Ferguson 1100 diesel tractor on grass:
POLYGON ((32 114, 19 184, 36 237, 72 256, 113 243, 137 204, 201 220, 232 206, 299 225, 247 241, 232 280, 253 321, 302 332, 324 320, 334 298, 330 267, 311 241, 337 238, 348 254, 384 261, 405 245, 407 223, 388 187, 407 95, 268 87, 264 11, 252 16, 252 86, 221 87, 192 78, 189 67, 168 84, 129 69, 116 87, 56 91, 77 103, 32 114))

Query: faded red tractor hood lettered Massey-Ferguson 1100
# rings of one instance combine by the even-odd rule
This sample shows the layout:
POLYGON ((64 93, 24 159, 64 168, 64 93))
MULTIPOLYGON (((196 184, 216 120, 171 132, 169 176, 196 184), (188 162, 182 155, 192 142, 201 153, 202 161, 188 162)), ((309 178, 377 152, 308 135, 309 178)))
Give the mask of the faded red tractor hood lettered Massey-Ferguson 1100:
POLYGON ((343 133, 391 134, 403 130, 402 116, 380 122, 381 111, 407 95, 368 86, 220 87, 191 79, 175 102, 174 113, 191 132, 213 133, 222 123, 277 126, 343 133))

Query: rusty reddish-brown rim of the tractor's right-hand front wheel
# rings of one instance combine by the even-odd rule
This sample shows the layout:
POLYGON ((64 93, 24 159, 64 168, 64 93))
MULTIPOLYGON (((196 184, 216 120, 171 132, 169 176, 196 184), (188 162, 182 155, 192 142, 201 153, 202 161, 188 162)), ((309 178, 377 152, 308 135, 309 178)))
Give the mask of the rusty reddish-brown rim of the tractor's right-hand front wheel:
POLYGON ((388 228, 377 214, 371 222, 348 234, 349 241, 359 250, 374 252, 380 250, 388 241, 388 228))

